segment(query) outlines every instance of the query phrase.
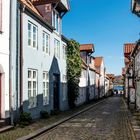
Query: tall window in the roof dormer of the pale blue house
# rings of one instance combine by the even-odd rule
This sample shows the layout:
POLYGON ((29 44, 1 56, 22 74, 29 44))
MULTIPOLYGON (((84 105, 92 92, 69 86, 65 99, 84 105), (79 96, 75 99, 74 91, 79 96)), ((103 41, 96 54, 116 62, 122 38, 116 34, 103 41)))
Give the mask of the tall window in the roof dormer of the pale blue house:
POLYGON ((60 18, 56 11, 53 11, 53 27, 55 27, 57 32, 60 32, 60 18))

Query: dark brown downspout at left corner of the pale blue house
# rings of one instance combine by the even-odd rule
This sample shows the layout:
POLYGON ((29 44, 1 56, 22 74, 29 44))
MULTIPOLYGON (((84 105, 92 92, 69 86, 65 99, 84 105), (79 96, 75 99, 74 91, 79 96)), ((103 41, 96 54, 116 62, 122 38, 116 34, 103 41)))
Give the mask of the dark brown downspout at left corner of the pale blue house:
POLYGON ((20 112, 23 112, 23 12, 25 5, 20 7, 20 112))

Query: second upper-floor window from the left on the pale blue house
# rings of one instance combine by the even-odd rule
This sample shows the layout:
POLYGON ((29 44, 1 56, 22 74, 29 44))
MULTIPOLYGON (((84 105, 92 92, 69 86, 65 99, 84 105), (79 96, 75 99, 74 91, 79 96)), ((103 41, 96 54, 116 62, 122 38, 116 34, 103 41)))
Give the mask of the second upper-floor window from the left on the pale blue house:
POLYGON ((50 36, 47 34, 47 33, 45 33, 45 32, 43 32, 43 36, 42 36, 42 38, 43 38, 43 52, 45 52, 45 53, 50 53, 49 51, 50 51, 50 36))

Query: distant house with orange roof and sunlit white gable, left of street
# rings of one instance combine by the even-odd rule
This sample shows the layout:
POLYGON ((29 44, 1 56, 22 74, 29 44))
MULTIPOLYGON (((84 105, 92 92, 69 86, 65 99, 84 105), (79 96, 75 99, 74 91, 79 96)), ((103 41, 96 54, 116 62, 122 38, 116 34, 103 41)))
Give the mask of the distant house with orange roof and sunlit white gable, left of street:
POLYGON ((103 57, 95 57, 95 67, 96 70, 100 73, 99 97, 102 98, 105 96, 105 65, 103 57))

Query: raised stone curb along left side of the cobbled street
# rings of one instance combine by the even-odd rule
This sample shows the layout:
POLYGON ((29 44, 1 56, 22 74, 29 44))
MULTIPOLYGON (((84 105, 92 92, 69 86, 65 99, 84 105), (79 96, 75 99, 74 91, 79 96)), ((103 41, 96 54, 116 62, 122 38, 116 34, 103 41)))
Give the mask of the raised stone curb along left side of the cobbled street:
POLYGON ((38 129, 38 130, 36 130, 36 131, 30 133, 29 135, 20 137, 20 138, 18 138, 18 139, 16 139, 16 140, 30 140, 30 139, 33 139, 33 138, 35 138, 35 137, 37 137, 37 136, 43 134, 44 132, 46 132, 46 131, 48 131, 48 130, 51 130, 51 129, 55 128, 56 126, 58 126, 58 125, 60 125, 60 124, 62 124, 62 123, 64 123, 64 122, 66 122, 66 121, 68 121, 68 120, 70 120, 70 119, 72 119, 72 118, 74 118, 74 117, 76 117, 76 116, 78 116, 79 114, 84 113, 84 112, 86 112, 87 110, 90 110, 92 107, 94 107, 94 106, 96 106, 96 105, 98 105, 98 104, 104 102, 105 100, 106 100, 106 99, 103 99, 102 101, 99 101, 99 102, 97 102, 97 103, 95 103, 95 104, 93 104, 93 105, 90 105, 89 107, 87 107, 87 108, 85 108, 85 109, 83 109, 83 110, 81 110, 81 111, 78 111, 77 113, 74 113, 73 115, 71 115, 71 116, 69 116, 69 117, 66 117, 66 118, 64 118, 64 119, 62 119, 62 120, 60 120, 60 121, 57 121, 57 122, 55 122, 55 123, 53 123, 53 124, 51 124, 51 125, 45 126, 45 127, 43 127, 43 128, 40 128, 40 129, 38 129))

